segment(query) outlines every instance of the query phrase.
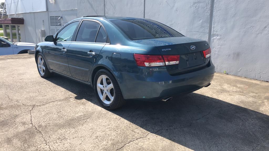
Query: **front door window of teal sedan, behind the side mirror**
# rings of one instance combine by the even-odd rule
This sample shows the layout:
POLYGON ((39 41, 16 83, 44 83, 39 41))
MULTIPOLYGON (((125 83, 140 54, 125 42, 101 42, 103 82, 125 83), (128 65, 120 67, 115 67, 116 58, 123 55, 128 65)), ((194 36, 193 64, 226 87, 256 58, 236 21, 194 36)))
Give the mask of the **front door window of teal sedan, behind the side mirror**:
POLYGON ((71 41, 79 21, 65 26, 57 35, 57 41, 71 41))

